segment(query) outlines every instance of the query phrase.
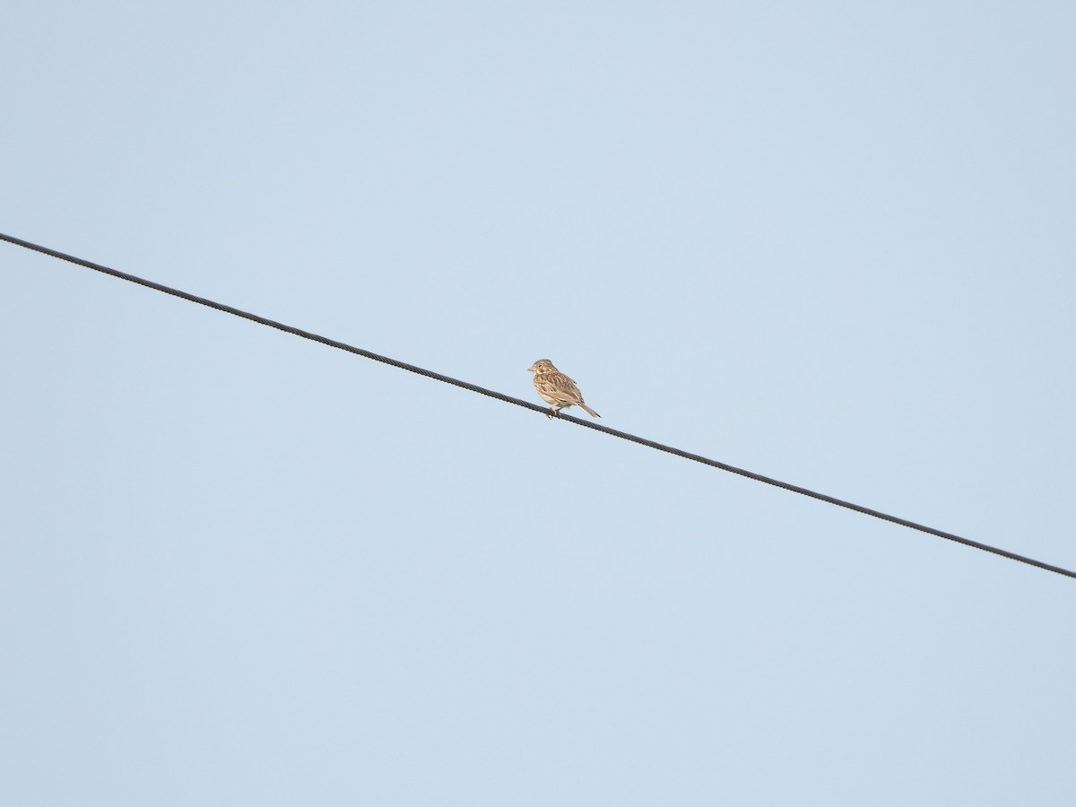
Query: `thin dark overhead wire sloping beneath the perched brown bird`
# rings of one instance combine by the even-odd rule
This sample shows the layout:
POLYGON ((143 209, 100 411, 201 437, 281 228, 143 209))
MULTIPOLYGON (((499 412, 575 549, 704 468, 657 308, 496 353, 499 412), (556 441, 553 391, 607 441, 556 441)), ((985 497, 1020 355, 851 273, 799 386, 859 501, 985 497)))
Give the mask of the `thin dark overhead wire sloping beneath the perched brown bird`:
MULTIPOLYGON (((43 255, 48 255, 54 258, 59 258, 60 260, 67 260, 71 264, 77 266, 86 267, 87 269, 93 269, 104 274, 111 274, 113 278, 119 278, 121 280, 126 280, 131 283, 137 283, 140 286, 145 286, 146 288, 153 288, 157 292, 164 292, 165 294, 170 294, 173 297, 179 297, 190 302, 197 302, 199 306, 207 306, 217 311, 224 311, 228 314, 233 314, 240 316, 244 320, 250 320, 251 322, 256 322, 259 325, 268 325, 270 328, 277 328, 278 330, 283 330, 285 334, 293 334, 303 339, 310 339, 314 342, 320 342, 321 344, 328 345, 329 348, 337 348, 338 350, 346 351, 348 353, 354 353, 358 356, 364 356, 366 358, 373 359, 374 362, 381 362, 382 364, 391 365, 393 367, 398 367, 401 370, 407 370, 408 372, 415 372, 420 376, 425 376, 426 378, 435 379, 437 381, 442 381, 445 384, 452 384, 453 386, 458 386, 464 390, 468 390, 472 393, 478 393, 479 395, 485 395, 491 398, 496 398, 497 400, 502 400, 506 404, 514 404, 518 407, 523 407, 524 409, 530 409, 536 412, 541 412, 544 415, 550 414, 550 410, 546 407, 539 406, 537 404, 532 404, 530 401, 521 400, 519 398, 513 398, 510 395, 505 395, 504 393, 498 393, 494 390, 486 390, 485 387, 478 386, 477 384, 469 384, 466 381, 461 381, 459 379, 454 379, 450 376, 442 376, 439 372, 434 372, 433 370, 426 370, 422 367, 415 367, 414 365, 409 365, 406 362, 398 362, 395 358, 390 358, 387 356, 382 356, 377 353, 371 353, 370 351, 365 351, 362 348, 355 348, 354 345, 346 344, 344 342, 338 342, 335 339, 329 339, 327 337, 318 336, 317 334, 311 334, 309 330, 302 330, 300 328, 293 327, 291 325, 284 325, 283 323, 275 322, 273 320, 266 318, 264 316, 258 316, 257 314, 252 314, 246 311, 240 311, 238 308, 232 308, 231 306, 225 306, 221 302, 214 302, 213 300, 208 300, 204 297, 198 297, 187 292, 181 292, 178 288, 171 288, 169 286, 162 285, 160 283, 154 283, 151 280, 145 280, 144 278, 138 278, 133 274, 128 274, 126 272, 121 272, 116 269, 110 269, 107 266, 101 266, 100 264, 95 264, 91 260, 85 260, 84 258, 77 258, 73 255, 67 255, 62 252, 56 250, 51 250, 47 246, 40 246, 38 244, 30 243, 29 241, 24 241, 19 238, 14 238, 13 236, 5 236, 0 232, 0 240, 8 241, 17 246, 23 246, 27 250, 32 250, 34 252, 40 252, 43 255)), ((908 527, 910 529, 917 529, 920 533, 926 533, 928 535, 934 535, 938 538, 946 538, 950 541, 955 541, 957 543, 963 543, 965 547, 972 547, 973 549, 979 549, 983 552, 992 552, 995 555, 1001 555, 1002 557, 1007 557, 1010 561, 1018 561, 1020 563, 1025 563, 1029 566, 1035 566, 1039 569, 1045 569, 1046 571, 1053 571, 1058 575, 1064 575, 1065 577, 1076 578, 1076 571, 1070 569, 1061 568, 1060 566, 1053 566, 1048 563, 1043 563, 1042 561, 1036 561, 1032 557, 1027 557, 1024 555, 1018 555, 1016 552, 1009 552, 1008 550, 1000 549, 997 547, 991 547, 987 543, 979 543, 978 541, 973 541, 969 538, 962 538, 959 535, 953 535, 952 533, 946 533, 942 529, 935 529, 934 527, 925 526, 924 524, 917 524, 914 521, 907 521, 906 519, 900 519, 895 515, 889 515, 887 513, 880 512, 878 510, 872 510, 868 507, 863 507, 862 505, 855 505, 851 501, 845 501, 844 499, 838 499, 834 496, 827 496, 823 493, 816 493, 815 491, 809 491, 806 487, 801 487, 798 485, 789 484, 788 482, 781 482, 777 479, 770 479, 769 477, 764 477, 761 473, 755 473, 753 471, 745 470, 742 468, 737 468, 732 465, 726 465, 725 463, 719 463, 717 459, 710 459, 699 454, 692 454, 681 449, 672 448, 671 445, 664 445, 660 442, 654 442, 653 440, 648 440, 643 437, 638 437, 636 435, 629 435, 626 431, 620 431, 614 428, 609 428, 608 426, 603 426, 598 423, 592 421, 583 421, 579 417, 574 417, 568 414, 563 414, 561 412, 554 413, 555 417, 560 420, 569 421, 578 426, 585 426, 586 428, 592 428, 595 431, 601 431, 612 437, 619 437, 622 440, 629 440, 632 442, 639 443, 640 445, 646 445, 647 448, 654 449, 656 451, 664 451, 667 454, 674 454, 676 456, 682 457, 684 459, 691 459, 696 463, 702 463, 703 465, 708 465, 712 468, 720 468, 723 471, 728 471, 730 473, 736 473, 740 477, 746 477, 752 479, 756 482, 764 482, 768 485, 774 485, 775 487, 780 487, 785 491, 791 491, 792 493, 798 493, 803 496, 808 496, 812 499, 818 499, 819 501, 825 501, 830 505, 836 505, 837 507, 844 507, 848 510, 854 510, 855 512, 863 513, 864 515, 873 515, 876 519, 881 519, 882 521, 888 521, 893 524, 900 524, 903 527, 908 527)))

